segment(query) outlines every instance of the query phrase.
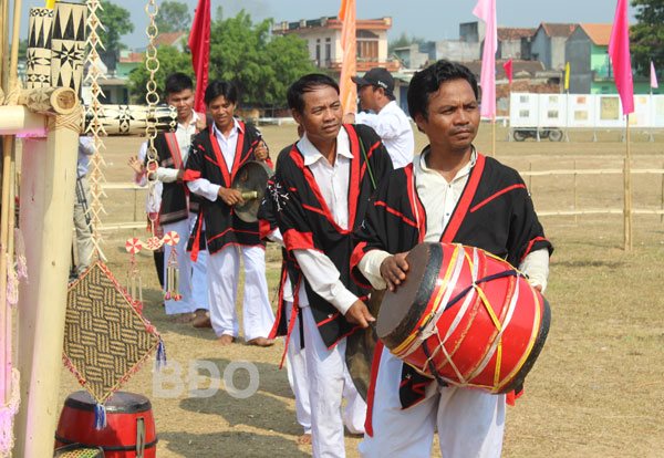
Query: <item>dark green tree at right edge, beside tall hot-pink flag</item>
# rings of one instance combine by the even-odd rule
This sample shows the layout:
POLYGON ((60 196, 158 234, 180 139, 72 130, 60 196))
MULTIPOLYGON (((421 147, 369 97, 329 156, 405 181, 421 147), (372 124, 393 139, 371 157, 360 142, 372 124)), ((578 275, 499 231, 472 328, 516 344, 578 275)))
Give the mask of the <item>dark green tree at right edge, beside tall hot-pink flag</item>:
POLYGON ((664 69, 664 0, 632 0, 636 7, 636 25, 630 28, 632 64, 642 75, 650 74, 650 63, 664 69))

